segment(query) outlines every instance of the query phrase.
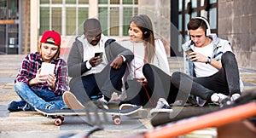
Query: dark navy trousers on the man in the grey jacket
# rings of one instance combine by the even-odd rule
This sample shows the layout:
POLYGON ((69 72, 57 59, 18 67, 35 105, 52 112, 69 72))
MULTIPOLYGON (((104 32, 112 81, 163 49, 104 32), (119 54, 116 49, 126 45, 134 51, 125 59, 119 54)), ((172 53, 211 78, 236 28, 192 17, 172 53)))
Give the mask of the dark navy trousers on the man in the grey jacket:
POLYGON ((120 92, 122 78, 125 74, 126 63, 119 69, 113 69, 110 63, 100 73, 73 78, 70 81, 70 91, 85 105, 90 96, 105 95, 109 100, 113 92, 120 92))

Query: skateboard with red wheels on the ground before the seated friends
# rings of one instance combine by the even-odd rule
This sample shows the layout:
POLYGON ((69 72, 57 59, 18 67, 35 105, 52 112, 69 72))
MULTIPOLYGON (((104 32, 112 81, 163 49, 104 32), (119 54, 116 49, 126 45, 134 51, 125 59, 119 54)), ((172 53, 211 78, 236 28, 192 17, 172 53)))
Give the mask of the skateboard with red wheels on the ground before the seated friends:
MULTIPOLYGON (((113 119, 113 124, 119 125, 121 124, 121 116, 131 116, 131 114, 138 112, 142 109, 143 106, 134 106, 125 110, 115 110, 115 109, 98 109, 91 108, 88 106, 88 109, 84 108, 83 110, 72 110, 72 109, 62 109, 62 110, 54 110, 54 111, 44 111, 41 109, 36 109, 37 112, 42 113, 46 117, 55 118, 55 125, 59 126, 64 121, 65 116, 87 116, 88 121, 92 120, 91 118, 100 118, 99 115, 103 115, 103 118, 106 119, 106 115, 111 115, 113 119)), ((93 119, 99 121, 98 119, 93 119)), ((99 124, 98 122, 96 125, 99 124)), ((92 123, 95 125, 95 123, 92 123)))

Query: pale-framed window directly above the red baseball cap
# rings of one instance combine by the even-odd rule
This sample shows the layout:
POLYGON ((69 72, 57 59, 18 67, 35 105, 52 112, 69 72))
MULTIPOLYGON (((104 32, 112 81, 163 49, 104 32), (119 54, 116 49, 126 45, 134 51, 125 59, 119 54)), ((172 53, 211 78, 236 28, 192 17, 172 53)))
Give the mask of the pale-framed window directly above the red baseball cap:
POLYGON ((55 30, 61 35, 74 36, 84 32, 88 19, 89 0, 40 0, 39 34, 55 30))

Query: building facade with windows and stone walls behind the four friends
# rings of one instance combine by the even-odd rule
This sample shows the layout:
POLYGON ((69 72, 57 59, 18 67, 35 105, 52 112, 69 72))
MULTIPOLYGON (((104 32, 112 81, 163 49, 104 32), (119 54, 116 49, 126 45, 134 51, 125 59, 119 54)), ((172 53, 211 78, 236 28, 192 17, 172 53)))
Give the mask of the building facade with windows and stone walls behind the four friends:
POLYGON ((255 70, 255 6, 254 0, 1 0, 0 54, 34 52, 44 31, 55 30, 67 55, 88 18, 99 19, 105 35, 122 41, 129 38, 131 17, 148 14, 167 55, 183 56, 181 44, 189 39, 186 24, 204 16, 212 33, 231 42, 239 67, 255 70))

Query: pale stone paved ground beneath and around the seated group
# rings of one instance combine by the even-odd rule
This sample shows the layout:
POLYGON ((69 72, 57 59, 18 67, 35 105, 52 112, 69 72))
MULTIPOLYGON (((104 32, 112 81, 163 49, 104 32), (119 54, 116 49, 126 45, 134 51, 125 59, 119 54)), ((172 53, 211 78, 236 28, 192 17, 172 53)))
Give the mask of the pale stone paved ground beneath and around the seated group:
MULTIPOLYGON (((24 55, 0 55, 0 138, 2 137, 48 137, 56 138, 70 133, 86 132, 92 127, 84 123, 80 117, 66 118, 65 124, 55 126, 54 120, 45 118, 38 112, 8 112, 10 101, 18 101, 15 94, 14 78, 24 55)), ((183 71, 182 59, 170 59, 172 72, 183 71)), ((171 73, 172 73, 171 72, 171 73)), ((245 89, 256 87, 256 72, 240 69, 241 79, 245 89)), ((111 118, 104 124, 104 130, 96 132, 91 137, 121 137, 153 129, 150 118, 123 118, 122 125, 113 125, 111 118)), ((186 137, 214 137, 214 128, 194 131, 186 137)))

